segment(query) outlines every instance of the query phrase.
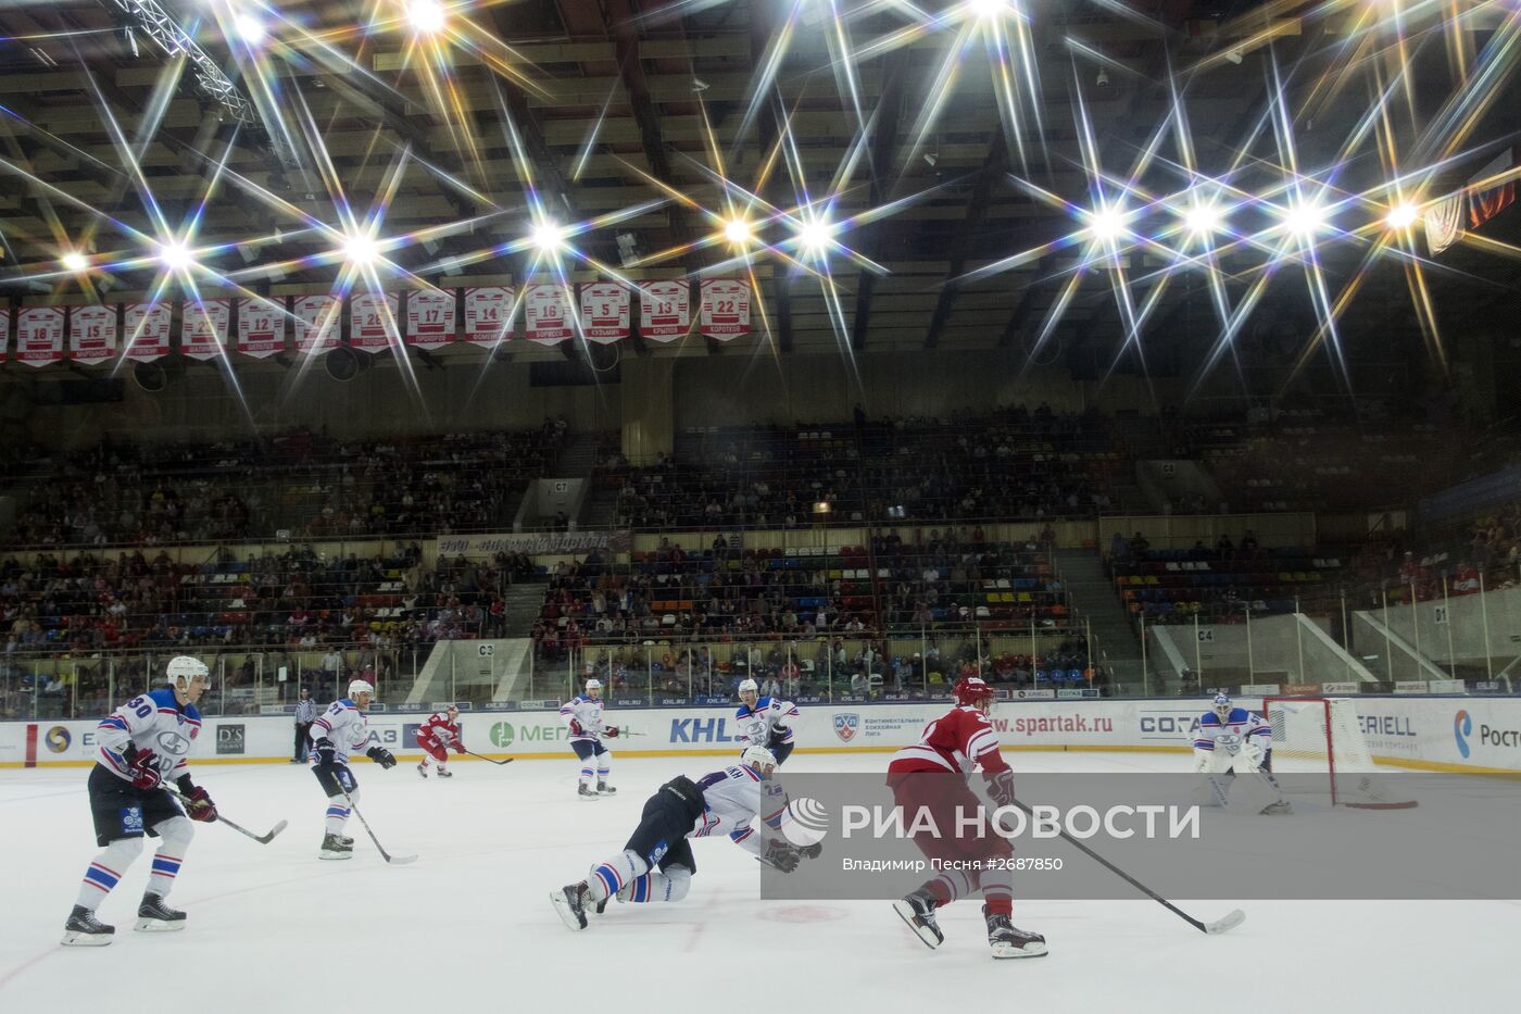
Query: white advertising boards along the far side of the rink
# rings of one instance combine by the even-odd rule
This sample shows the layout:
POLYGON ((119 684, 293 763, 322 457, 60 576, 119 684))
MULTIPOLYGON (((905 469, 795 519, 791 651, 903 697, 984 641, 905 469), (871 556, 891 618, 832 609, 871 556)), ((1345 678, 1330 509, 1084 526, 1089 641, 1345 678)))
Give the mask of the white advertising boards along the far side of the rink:
MULTIPOLYGON (((1261 700, 1240 703, 1259 709, 1261 700)), ((1197 700, 1021 700, 993 708, 1005 749, 1185 751, 1197 700)), ((802 754, 893 751, 917 740, 945 702, 799 705, 794 723, 802 754)), ((1521 772, 1521 700, 1483 697, 1358 697, 1363 735, 1375 760, 1401 767, 1474 773, 1521 772)), ((371 741, 420 755, 417 725, 427 713, 371 713, 371 741)), ((487 757, 564 757, 567 731, 555 711, 464 713, 465 745, 487 757)), ((621 708, 607 722, 639 735, 610 740, 622 757, 715 755, 738 749, 732 708, 621 708)), ((94 763, 96 720, 0 723, 0 767, 94 763)), ((284 761, 292 749, 289 716, 207 719, 196 763, 284 761)))

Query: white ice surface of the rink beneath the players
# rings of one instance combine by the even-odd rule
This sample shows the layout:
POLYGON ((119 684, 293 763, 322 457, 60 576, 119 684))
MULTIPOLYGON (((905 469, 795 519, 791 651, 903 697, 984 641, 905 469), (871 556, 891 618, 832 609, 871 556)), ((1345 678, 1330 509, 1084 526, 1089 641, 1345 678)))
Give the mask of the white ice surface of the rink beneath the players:
MULTIPOLYGON (((1010 755, 1016 770, 1173 770, 1151 754, 1010 755)), ((795 755, 788 770, 882 770, 885 754, 795 755)), ((172 903, 183 933, 131 930, 148 856, 102 904, 117 927, 102 949, 59 947, 96 848, 87 769, 0 772, 5 930, 0 1011, 716 1011, 990 1009, 1159 1011, 1256 1008, 1431 1011, 1483 1008, 1510 991, 1500 955, 1521 939, 1521 904, 1243 901, 1247 921, 1205 936, 1141 901, 1030 901, 1015 924, 1045 933, 1034 961, 989 958, 976 903, 941 910, 946 942, 925 949, 881 903, 765 903, 759 866, 727 840, 695 842, 692 894, 674 906, 608 907, 570 933, 546 895, 619 850, 662 781, 716 757, 619 758, 613 799, 575 798, 576 764, 456 764, 456 778, 356 770, 350 862, 319 862, 325 799, 306 766, 196 770, 225 813, 266 830, 257 845, 198 825, 172 903), (872 1008, 876 1009, 876 1008, 872 1008)), ((1095 877, 1109 877, 1101 868, 1095 877)), ((1249 878, 1250 869, 1241 877, 1249 878)), ((1018 882, 1016 882, 1018 889, 1018 882)), ((1185 906, 1218 918, 1232 903, 1185 906)))

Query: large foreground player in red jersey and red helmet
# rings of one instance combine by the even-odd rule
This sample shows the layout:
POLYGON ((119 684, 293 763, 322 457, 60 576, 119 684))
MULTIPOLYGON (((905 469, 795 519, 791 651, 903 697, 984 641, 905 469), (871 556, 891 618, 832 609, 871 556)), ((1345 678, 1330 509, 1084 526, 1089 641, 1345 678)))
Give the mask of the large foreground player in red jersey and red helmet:
MULTIPOLYGON (((957 682, 957 706, 925 726, 919 741, 893 755, 887 784, 905 813, 928 810, 935 828, 958 828, 958 812, 987 808, 967 786, 967 775, 981 767, 989 795, 998 805, 1015 798, 1015 773, 999 752, 987 713, 993 690, 978 676, 957 682)), ((913 894, 893 903, 893 910, 931 950, 945 941, 935 909, 981 891, 983 918, 993 958, 1039 958, 1046 953, 1045 936, 1016 929, 1013 912, 1013 848, 998 836, 978 837, 961 833, 914 834, 914 843, 929 860, 945 869, 913 894)))

